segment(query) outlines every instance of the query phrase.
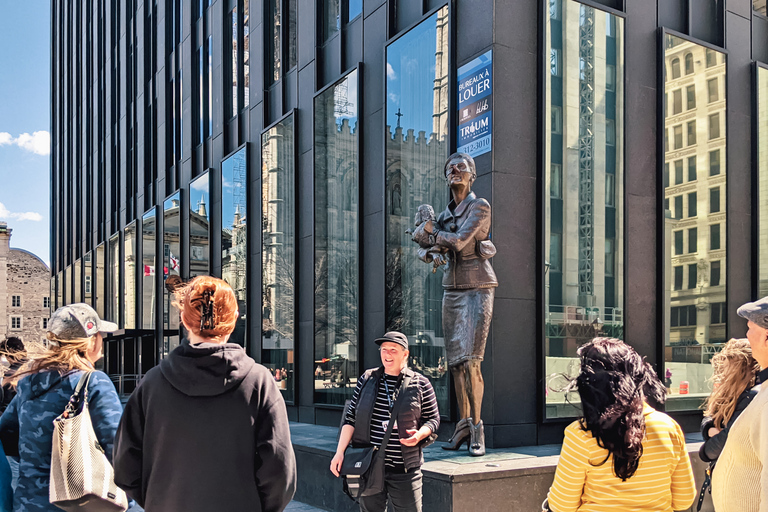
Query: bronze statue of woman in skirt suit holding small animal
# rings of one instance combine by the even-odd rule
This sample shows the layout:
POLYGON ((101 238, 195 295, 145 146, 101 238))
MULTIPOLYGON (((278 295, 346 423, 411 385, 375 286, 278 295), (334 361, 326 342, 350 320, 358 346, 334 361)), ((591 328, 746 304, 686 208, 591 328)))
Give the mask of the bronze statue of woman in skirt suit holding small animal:
POLYGON ((451 202, 436 220, 421 222, 413 240, 419 256, 443 269, 443 333, 448 365, 453 375, 461 420, 447 446, 458 450, 465 441, 469 453, 485 454, 485 433, 480 419, 484 382, 480 364, 493 316, 493 297, 498 286, 491 258, 491 205, 472 192, 477 178, 475 161, 454 153, 444 168, 451 202))

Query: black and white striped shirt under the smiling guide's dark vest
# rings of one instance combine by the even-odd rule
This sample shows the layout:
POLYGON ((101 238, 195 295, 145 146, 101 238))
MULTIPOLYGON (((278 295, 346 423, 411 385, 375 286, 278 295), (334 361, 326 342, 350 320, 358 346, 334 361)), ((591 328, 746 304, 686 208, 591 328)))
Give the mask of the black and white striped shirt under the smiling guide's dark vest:
MULTIPOLYGON (((379 381, 379 389, 376 390, 376 403, 373 407, 373 414, 371 415, 371 444, 374 446, 381 446, 381 442, 384 440, 384 433, 387 430, 387 422, 390 420, 390 400, 392 406, 394 406, 398 378, 399 376, 397 375, 388 375, 385 373, 384 378, 379 381), (386 385, 384 384, 385 380, 386 385), (389 388, 389 400, 387 399, 387 388, 389 388)), ((429 382, 429 379, 423 375, 415 373, 413 379, 417 381, 416 384, 421 388, 421 424, 428 426, 432 432, 435 432, 439 426, 440 419, 440 414, 437 410, 435 390, 432 389, 432 384, 429 382)), ((357 400, 360 397, 362 385, 363 379, 361 377, 357 381, 357 387, 352 395, 352 400, 344 418, 344 423, 352 425, 353 427, 355 426, 357 400)), ((408 436, 404 435, 403 437, 408 436)), ((397 424, 392 427, 392 434, 387 443, 384 464, 396 469, 402 469, 404 467, 403 452, 401 450, 397 424)))

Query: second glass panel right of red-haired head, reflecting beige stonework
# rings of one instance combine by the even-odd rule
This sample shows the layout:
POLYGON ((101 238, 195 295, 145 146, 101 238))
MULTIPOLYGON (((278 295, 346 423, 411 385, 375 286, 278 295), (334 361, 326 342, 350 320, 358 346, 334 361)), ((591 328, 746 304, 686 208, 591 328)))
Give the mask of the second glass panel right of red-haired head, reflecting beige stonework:
MULTIPOLYGON (((296 162, 293 116, 261 136, 261 364, 294 400, 296 162)), ((314 369, 313 369, 314 370, 314 369)))

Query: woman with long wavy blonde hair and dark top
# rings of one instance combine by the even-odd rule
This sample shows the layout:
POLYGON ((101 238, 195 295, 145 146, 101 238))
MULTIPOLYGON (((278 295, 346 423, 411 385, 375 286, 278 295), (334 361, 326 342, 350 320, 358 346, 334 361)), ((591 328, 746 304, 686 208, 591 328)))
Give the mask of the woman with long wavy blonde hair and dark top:
POLYGON ((747 339, 729 340, 711 362, 714 390, 704 402, 704 444, 699 449, 704 462, 715 462, 720 457, 731 425, 760 390, 756 385, 760 365, 752 357, 747 339))

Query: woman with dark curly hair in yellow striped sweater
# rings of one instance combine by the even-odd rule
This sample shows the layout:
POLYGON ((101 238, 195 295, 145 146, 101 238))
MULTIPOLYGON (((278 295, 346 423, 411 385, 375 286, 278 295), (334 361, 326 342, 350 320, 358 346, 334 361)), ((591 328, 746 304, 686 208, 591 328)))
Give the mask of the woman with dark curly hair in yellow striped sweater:
POLYGON ((573 385, 583 417, 565 429, 560 461, 543 510, 685 510, 696 498, 680 426, 654 410, 665 389, 626 343, 595 338, 578 351, 573 385))

